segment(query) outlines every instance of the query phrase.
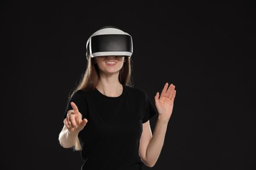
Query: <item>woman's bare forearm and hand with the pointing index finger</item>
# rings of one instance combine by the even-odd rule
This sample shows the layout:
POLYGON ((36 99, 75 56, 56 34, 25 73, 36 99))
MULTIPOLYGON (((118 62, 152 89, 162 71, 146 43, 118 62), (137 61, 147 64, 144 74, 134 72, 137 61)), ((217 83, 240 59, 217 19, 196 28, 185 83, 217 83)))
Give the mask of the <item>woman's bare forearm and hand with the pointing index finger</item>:
POLYGON ((64 119, 64 126, 58 136, 60 145, 64 148, 71 148, 79 144, 77 135, 88 122, 86 118, 82 120, 82 115, 74 102, 70 103, 70 105, 73 110, 68 110, 67 117, 64 119))

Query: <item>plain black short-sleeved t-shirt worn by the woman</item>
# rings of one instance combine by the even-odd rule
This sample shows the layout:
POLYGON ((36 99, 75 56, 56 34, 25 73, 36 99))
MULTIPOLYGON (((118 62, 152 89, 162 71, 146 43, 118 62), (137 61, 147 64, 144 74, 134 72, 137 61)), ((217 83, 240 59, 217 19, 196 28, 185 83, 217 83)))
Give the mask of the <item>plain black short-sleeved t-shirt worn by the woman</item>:
MULTIPOLYGON (((139 156, 142 124, 156 114, 146 93, 123 86, 118 97, 108 97, 98 90, 74 93, 74 101, 87 125, 78 134, 82 146, 83 170, 141 170, 139 156)), ((66 117, 65 112, 65 117, 66 117)))

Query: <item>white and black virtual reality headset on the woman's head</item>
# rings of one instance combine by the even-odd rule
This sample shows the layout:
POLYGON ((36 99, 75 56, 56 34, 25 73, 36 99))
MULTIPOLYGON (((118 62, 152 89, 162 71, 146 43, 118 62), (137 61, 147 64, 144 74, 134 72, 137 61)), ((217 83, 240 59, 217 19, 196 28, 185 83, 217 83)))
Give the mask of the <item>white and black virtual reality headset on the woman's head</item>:
POLYGON ((129 56, 133 54, 131 35, 113 26, 98 29, 86 43, 86 58, 129 56))

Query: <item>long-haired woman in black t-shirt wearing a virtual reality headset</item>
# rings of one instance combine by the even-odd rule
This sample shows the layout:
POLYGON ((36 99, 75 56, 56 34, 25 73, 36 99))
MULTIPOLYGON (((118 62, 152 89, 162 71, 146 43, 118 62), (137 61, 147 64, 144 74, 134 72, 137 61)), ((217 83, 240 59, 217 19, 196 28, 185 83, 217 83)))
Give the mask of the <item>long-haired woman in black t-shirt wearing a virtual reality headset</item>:
POLYGON ((156 93, 156 110, 131 84, 131 35, 102 27, 87 41, 87 69, 70 95, 59 141, 81 150, 81 169, 143 169, 160 156, 173 111, 175 86, 156 93), (154 133, 150 118, 158 113, 154 133))

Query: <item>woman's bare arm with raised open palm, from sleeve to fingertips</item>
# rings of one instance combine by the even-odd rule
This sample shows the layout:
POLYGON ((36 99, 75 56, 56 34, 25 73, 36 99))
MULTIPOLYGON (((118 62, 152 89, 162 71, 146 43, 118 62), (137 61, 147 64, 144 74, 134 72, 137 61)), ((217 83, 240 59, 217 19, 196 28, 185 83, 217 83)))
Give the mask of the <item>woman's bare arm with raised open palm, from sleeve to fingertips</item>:
POLYGON ((175 86, 166 83, 161 94, 158 92, 155 96, 156 109, 158 110, 158 121, 152 135, 150 122, 143 124, 143 131, 140 138, 139 154, 141 160, 148 167, 153 167, 158 161, 163 147, 165 133, 171 114, 173 112, 173 102, 176 95, 175 86))

